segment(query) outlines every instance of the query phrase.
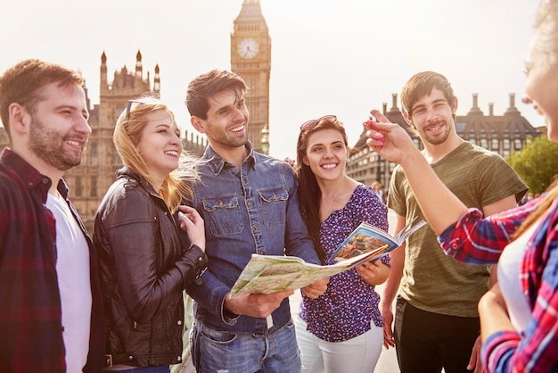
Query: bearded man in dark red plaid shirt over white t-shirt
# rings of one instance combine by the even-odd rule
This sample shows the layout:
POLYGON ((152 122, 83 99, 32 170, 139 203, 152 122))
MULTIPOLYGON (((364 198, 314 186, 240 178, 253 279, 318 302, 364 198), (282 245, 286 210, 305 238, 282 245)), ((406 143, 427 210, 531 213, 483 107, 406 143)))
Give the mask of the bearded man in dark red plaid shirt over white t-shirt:
POLYGON ((0 371, 98 372, 103 305, 97 256, 63 173, 91 134, 84 80, 25 60, 0 77, 11 146, 0 156, 0 371))

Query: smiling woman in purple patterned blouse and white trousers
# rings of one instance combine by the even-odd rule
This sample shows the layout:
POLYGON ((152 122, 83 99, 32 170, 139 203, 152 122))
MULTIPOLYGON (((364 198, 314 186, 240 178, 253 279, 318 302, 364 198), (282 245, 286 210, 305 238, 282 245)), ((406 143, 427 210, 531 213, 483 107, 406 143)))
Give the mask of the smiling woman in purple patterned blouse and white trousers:
MULTIPOLYGON (((345 175, 347 134, 335 116, 308 120, 297 143, 299 203, 322 264, 363 221, 388 230, 388 208, 345 175)), ((302 295, 295 320, 303 372, 372 372, 382 352, 380 295, 390 255, 332 276, 325 293, 302 295)))

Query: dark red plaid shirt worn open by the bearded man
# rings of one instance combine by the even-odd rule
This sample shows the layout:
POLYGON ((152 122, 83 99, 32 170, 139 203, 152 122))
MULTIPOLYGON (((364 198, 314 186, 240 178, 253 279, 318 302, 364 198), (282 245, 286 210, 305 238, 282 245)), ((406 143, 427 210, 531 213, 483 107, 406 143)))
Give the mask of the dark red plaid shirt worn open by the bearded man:
MULTIPOLYGON (((56 227, 46 209, 52 181, 9 149, 0 156, 0 371, 66 372, 56 275, 56 227)), ((90 251, 93 309, 84 371, 103 369, 103 306, 94 246, 68 201, 90 251)))

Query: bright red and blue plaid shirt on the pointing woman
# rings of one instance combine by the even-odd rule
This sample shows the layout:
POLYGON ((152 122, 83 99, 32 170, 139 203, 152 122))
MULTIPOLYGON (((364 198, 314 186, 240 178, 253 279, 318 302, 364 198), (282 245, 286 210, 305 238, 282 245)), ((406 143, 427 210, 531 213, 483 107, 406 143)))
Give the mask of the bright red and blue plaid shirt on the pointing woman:
MULTIPOLYGON (((513 232, 542 198, 482 219, 471 209, 440 236, 439 243, 456 261, 496 263, 513 232)), ((558 371, 558 199, 529 239, 521 262, 521 288, 531 308, 524 333, 503 331, 488 336, 482 346, 488 372, 558 371)))

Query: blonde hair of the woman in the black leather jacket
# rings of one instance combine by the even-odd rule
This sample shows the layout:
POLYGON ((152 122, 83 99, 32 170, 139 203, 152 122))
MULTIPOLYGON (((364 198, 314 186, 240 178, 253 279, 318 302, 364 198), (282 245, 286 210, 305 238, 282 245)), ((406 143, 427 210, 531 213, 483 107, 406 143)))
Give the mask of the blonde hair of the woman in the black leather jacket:
MULTIPOLYGON (((116 150, 119 152, 124 165, 131 170, 135 170, 151 185, 154 184, 153 178, 149 173, 144 157, 138 151, 137 145, 141 141, 142 133, 147 125, 147 114, 159 111, 168 112, 173 122, 175 122, 175 114, 158 98, 144 96, 131 100, 128 103, 127 110, 122 112, 116 121, 112 136, 116 150)), ((178 210, 178 206, 183 199, 191 198, 193 195, 191 184, 197 178, 194 163, 193 156, 183 152, 180 156, 178 169, 170 172, 160 187, 159 195, 173 213, 178 210)))

